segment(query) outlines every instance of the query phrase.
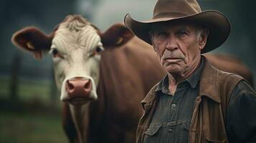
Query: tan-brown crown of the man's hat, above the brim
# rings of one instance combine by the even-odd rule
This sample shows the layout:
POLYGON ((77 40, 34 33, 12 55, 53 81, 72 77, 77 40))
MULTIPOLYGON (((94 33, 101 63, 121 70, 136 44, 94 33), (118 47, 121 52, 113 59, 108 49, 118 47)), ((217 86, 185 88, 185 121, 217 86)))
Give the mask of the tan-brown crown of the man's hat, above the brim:
POLYGON ((166 16, 189 16, 202 12, 196 0, 158 0, 153 10, 153 19, 166 16))

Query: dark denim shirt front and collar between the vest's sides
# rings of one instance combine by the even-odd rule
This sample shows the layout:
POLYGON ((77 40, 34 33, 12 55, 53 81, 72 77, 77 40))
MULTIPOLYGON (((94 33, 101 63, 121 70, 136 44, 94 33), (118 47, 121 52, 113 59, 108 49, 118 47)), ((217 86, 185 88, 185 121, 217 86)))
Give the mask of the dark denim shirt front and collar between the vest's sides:
POLYGON ((199 94, 198 83, 203 67, 202 58, 194 74, 177 85, 174 95, 169 94, 168 76, 161 80, 155 90, 159 100, 149 129, 145 132, 145 143, 189 142, 189 124, 194 101, 199 94))

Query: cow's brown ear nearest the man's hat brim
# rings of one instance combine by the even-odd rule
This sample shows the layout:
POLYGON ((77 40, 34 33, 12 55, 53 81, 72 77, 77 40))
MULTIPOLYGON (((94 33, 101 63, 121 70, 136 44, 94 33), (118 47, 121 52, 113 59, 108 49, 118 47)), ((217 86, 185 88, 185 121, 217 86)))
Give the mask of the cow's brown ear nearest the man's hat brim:
POLYGON ((105 48, 118 47, 126 44, 133 38, 133 34, 124 24, 114 24, 107 31, 101 34, 101 40, 105 48))

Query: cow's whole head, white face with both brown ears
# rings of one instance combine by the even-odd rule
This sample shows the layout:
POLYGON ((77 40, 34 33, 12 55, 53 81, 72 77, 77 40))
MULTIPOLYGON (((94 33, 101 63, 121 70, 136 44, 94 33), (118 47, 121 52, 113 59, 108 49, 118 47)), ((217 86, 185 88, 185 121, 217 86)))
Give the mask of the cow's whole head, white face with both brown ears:
POLYGON ((67 16, 52 34, 34 27, 17 31, 12 42, 31 52, 37 59, 44 51, 52 54, 54 77, 60 99, 72 104, 85 104, 98 98, 100 53, 129 41, 133 35, 123 24, 115 24, 105 33, 82 16, 67 16))

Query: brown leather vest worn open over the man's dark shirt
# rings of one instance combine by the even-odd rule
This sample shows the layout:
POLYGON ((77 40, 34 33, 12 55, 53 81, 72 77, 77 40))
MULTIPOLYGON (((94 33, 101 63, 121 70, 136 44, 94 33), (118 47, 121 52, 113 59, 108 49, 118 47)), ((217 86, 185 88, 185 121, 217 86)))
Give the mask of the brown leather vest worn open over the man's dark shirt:
MULTIPOLYGON (((199 95, 196 97, 194 112, 189 127, 189 142, 227 142, 225 129, 226 109, 234 87, 242 77, 214 68, 205 59, 200 79, 199 95)), ((141 102, 145 110, 138 123, 136 142, 143 143, 144 132, 148 129, 155 112, 158 98, 154 86, 141 102)))

